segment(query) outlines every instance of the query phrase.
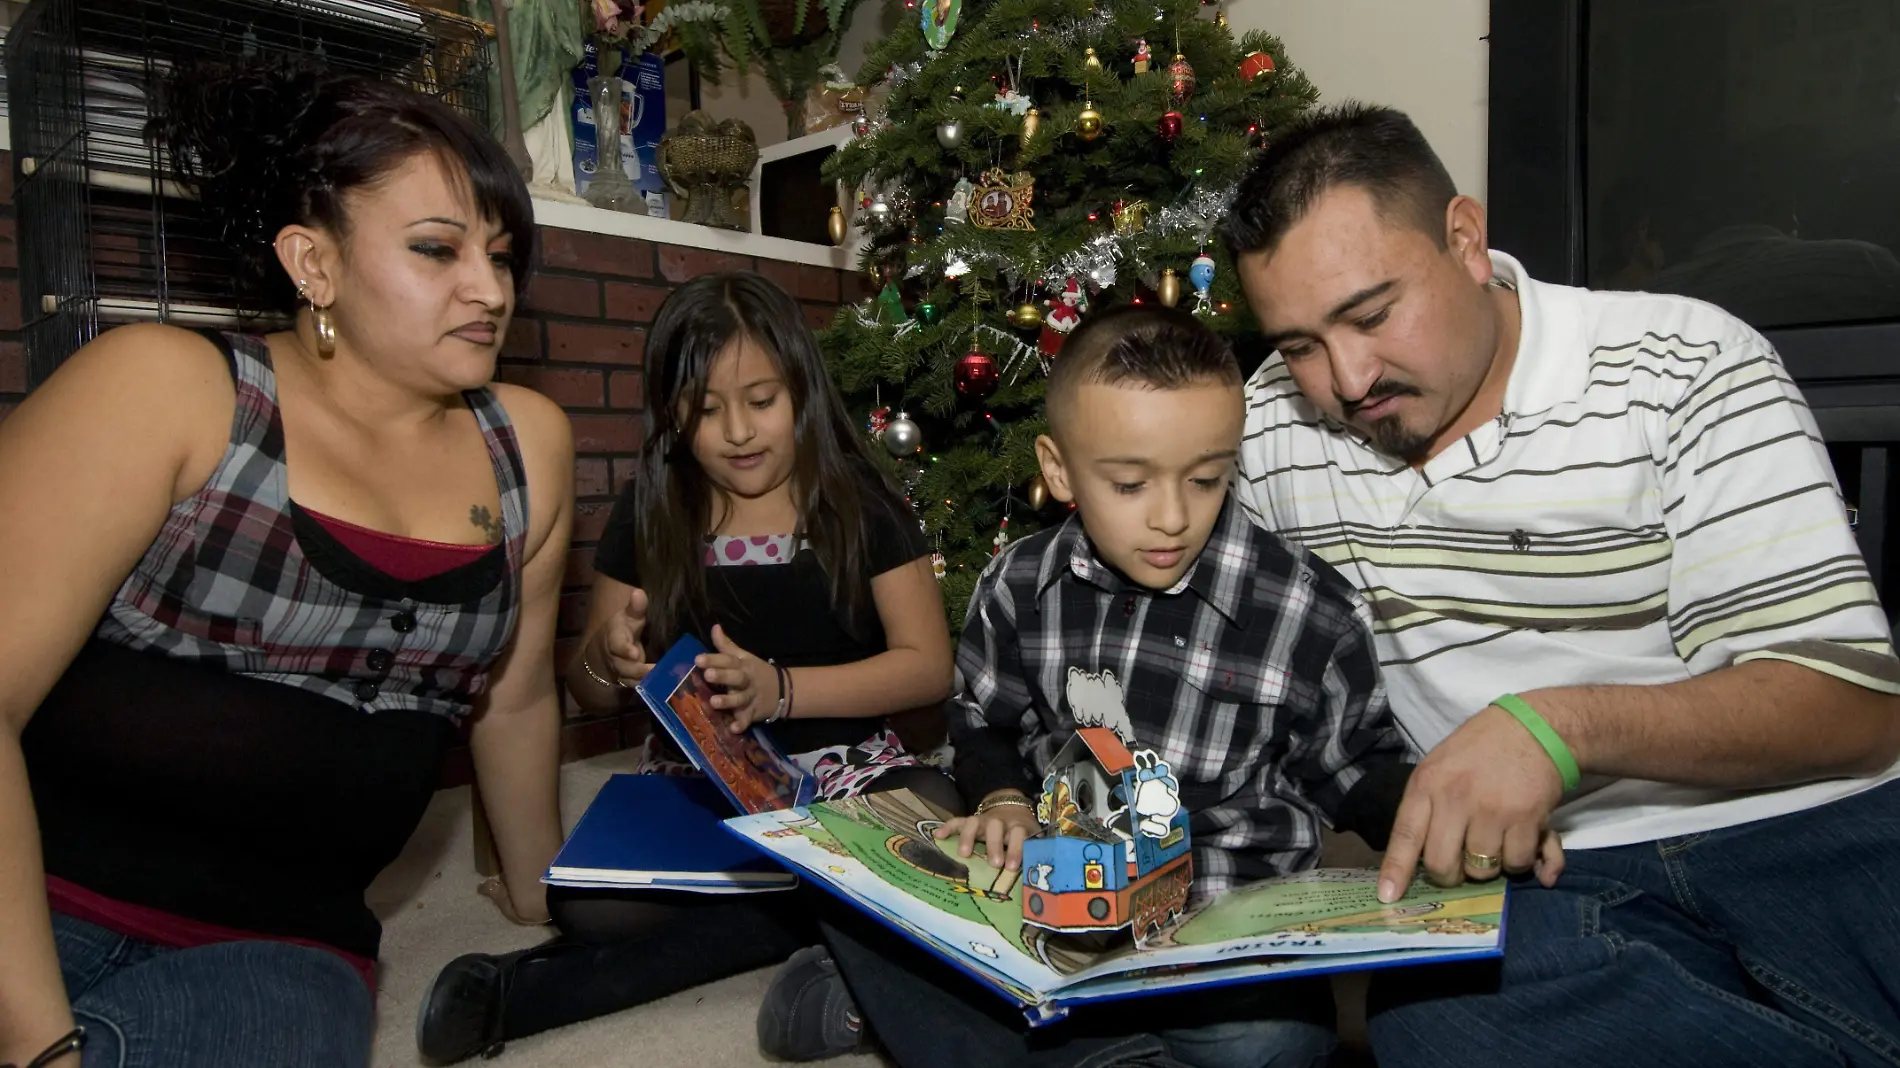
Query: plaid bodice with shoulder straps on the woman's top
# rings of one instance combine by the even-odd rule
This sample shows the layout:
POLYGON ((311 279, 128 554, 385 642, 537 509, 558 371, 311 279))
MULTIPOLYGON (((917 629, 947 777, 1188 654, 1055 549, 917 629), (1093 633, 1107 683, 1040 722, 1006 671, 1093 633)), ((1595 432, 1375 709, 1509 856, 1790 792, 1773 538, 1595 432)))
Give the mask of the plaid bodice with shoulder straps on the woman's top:
POLYGON ((467 715, 513 639, 528 481, 507 412, 466 393, 502 490, 502 545, 399 582, 355 559, 289 496, 270 348, 217 334, 238 386, 230 448, 173 505, 95 637, 296 686, 365 713, 467 715))

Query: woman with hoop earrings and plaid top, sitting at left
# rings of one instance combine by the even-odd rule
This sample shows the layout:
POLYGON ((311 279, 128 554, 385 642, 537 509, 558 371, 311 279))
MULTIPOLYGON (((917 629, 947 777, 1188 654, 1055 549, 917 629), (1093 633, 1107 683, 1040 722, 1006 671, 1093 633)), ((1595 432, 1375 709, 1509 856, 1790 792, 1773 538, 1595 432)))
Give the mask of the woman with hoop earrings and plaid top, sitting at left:
POLYGON ((572 439, 486 386, 532 209, 395 86, 203 68, 160 105, 247 306, 294 317, 110 331, 0 424, 0 1062, 367 1064, 363 889, 464 720, 547 914, 572 439))

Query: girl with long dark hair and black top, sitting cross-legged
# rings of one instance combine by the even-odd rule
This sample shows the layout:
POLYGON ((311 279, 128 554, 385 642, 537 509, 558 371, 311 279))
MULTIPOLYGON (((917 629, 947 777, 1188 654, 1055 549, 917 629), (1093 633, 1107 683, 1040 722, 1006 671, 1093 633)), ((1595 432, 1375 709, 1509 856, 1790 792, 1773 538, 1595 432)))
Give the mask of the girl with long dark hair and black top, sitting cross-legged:
MULTIPOLYGON (((908 709, 937 715, 950 694, 927 547, 798 306, 756 274, 697 277, 661 306, 646 355, 642 469, 595 553, 591 621, 568 667, 576 701, 631 703, 650 661, 697 635, 732 730, 771 722, 821 796, 910 789, 961 811, 954 783, 891 726, 908 709)), ((443 969, 418 1034, 426 1057, 460 1060, 817 939, 813 901, 796 893, 551 887, 547 901, 564 939, 443 969)), ((857 1034, 825 950, 796 954, 760 1009, 768 1053, 842 1053, 857 1034)))

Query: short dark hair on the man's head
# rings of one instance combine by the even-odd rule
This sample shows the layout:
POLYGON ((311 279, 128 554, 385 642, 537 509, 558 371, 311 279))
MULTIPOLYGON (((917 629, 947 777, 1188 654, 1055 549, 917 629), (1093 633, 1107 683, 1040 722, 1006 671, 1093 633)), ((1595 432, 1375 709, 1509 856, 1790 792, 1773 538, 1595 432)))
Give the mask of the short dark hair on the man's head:
POLYGON ((1444 207, 1457 186, 1431 143, 1400 110, 1345 103, 1300 118, 1254 160, 1222 224, 1227 253, 1271 253, 1336 186, 1366 190, 1387 220, 1446 247, 1444 207))

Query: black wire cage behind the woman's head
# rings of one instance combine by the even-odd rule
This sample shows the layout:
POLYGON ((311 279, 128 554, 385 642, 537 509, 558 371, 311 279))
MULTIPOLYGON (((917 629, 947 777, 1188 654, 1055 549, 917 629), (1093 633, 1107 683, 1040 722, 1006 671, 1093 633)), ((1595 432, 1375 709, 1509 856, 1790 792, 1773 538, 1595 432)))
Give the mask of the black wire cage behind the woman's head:
POLYGON ((486 127, 488 40, 486 23, 399 0, 34 0, 6 42, 30 382, 103 325, 239 323, 222 236, 146 137, 173 65, 300 55, 486 127))

